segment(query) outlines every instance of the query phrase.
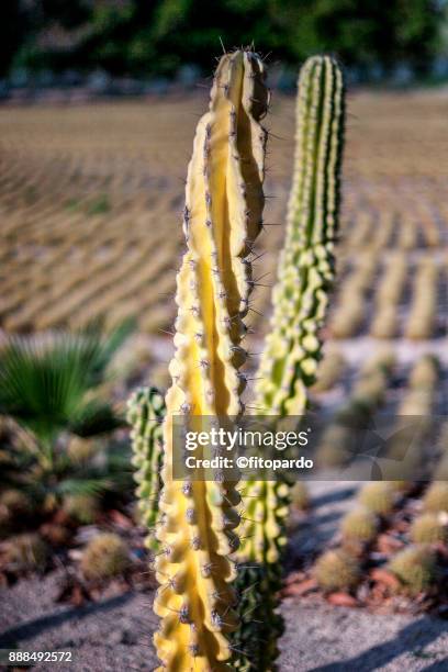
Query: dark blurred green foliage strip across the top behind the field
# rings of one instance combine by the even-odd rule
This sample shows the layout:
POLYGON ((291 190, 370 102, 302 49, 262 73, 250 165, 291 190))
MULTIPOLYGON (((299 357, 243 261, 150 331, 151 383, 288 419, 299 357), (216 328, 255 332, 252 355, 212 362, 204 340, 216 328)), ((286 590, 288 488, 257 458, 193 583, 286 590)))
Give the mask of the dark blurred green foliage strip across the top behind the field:
POLYGON ((441 51, 446 0, 4 0, 0 70, 104 68, 171 76, 255 43, 298 65, 316 52, 367 68, 424 72, 441 51))

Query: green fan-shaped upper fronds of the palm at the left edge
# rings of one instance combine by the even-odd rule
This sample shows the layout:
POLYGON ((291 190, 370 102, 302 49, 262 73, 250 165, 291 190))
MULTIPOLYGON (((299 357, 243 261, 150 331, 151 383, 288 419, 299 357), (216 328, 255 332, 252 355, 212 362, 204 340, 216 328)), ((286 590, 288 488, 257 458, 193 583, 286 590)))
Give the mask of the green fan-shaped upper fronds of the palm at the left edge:
POLYGON ((131 328, 124 323, 102 336, 93 325, 83 333, 9 339, 0 350, 0 414, 47 444, 63 429, 91 436, 115 428, 110 405, 86 397, 104 381, 131 328))

